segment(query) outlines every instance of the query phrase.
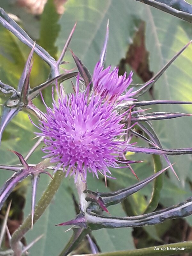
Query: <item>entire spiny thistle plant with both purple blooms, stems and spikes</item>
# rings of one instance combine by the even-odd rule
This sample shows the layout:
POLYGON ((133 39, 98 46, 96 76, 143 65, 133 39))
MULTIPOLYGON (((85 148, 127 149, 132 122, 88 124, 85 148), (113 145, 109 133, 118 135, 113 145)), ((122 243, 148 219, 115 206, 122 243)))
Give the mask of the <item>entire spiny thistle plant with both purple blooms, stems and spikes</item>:
MULTIPOLYGON (((61 73, 60 65, 64 63, 63 58, 74 34, 76 24, 68 37, 59 59, 55 60, 44 48, 36 44, 3 9, 1 9, 0 23, 17 36, 22 43, 31 48, 17 89, 0 81, 0 92, 4 95, 9 95, 3 106, 0 139, 2 139, 3 132, 6 132, 9 122, 20 111, 27 111, 30 122, 38 129, 35 132, 38 140, 31 150, 29 148, 30 151, 26 157, 22 156, 20 152, 12 150, 12 153, 16 154, 19 158, 19 165, 4 165, 3 163, 0 165, 1 172, 4 172, 4 170, 14 172, 8 180, 4 180, 4 185, 0 189, 1 208, 10 201, 10 194, 21 181, 29 176, 32 183, 31 214, 12 235, 9 233, 9 229, 6 228, 11 201, 7 207, 1 227, 0 245, 2 247, 0 255, 20 256, 27 254, 27 251, 34 245, 36 240, 26 246, 26 244, 21 242, 21 239, 29 229, 33 229, 33 225, 51 203, 52 198, 62 184, 62 180, 68 176, 74 179, 74 185, 78 194, 79 207, 77 216, 75 219, 60 224, 57 221, 52 223, 52 225, 56 226, 70 226, 73 230, 73 236, 62 252, 60 252, 60 255, 63 256, 69 255, 69 253, 75 250, 85 237, 88 240, 92 254, 99 252, 91 236, 93 230, 142 227, 191 215, 192 197, 180 204, 155 211, 157 202, 156 207, 151 212, 146 211, 138 216, 118 217, 108 214, 110 212, 108 206, 121 203, 125 198, 136 193, 157 177, 160 177, 166 170, 170 169, 178 178, 173 169, 173 163, 170 162, 168 156, 192 154, 192 148, 163 148, 150 123, 151 120, 172 119, 184 116, 191 118, 191 114, 148 112, 149 109, 143 108, 156 104, 177 105, 192 104, 192 102, 176 100, 144 101, 139 98, 149 91, 157 79, 191 42, 185 45, 148 82, 134 86, 132 85, 132 82, 134 82, 132 71, 129 74, 125 72, 121 76, 117 67, 104 67, 109 34, 108 25, 100 60, 93 60, 95 63, 98 62, 91 75, 88 68, 84 66, 83 62, 72 51, 71 54, 77 71, 65 70, 64 73, 61 73), (33 67, 34 52, 50 66, 51 72, 46 82, 30 88, 29 78, 33 67), (70 79, 72 79, 73 92, 66 93, 65 80, 70 79), (46 102, 46 97, 42 93, 50 86, 52 86, 51 107, 46 102), (43 101, 45 111, 42 110, 43 108, 40 109, 36 106, 35 99, 37 97, 43 101), (32 115, 35 118, 31 118, 32 115), (138 146, 134 138, 140 138, 140 140, 148 143, 149 146, 138 146), (28 164, 28 158, 40 144, 41 150, 44 153, 43 159, 39 157, 37 160, 38 164, 28 164), (130 152, 143 153, 143 158, 140 160, 130 160, 130 152), (92 179, 102 180, 104 178, 107 186, 107 182, 110 184, 111 180, 116 179, 116 173, 113 171, 115 169, 125 169, 126 172, 127 169, 130 169, 132 175, 138 179, 133 166, 144 162, 145 154, 156 155, 156 157, 162 155, 166 162, 165 168, 160 168, 158 172, 144 180, 138 180, 131 187, 113 192, 92 191, 92 188, 87 186, 88 173, 92 174, 92 179), (36 205, 37 184, 40 174, 43 173, 48 174, 52 180, 36 205), (104 214, 104 212, 107 212, 107 214, 104 214), (9 238, 10 249, 5 249, 2 243, 6 232, 9 238)), ((55 217, 57 218, 57 216, 55 217)), ((63 227, 55 227, 55 232, 57 232, 57 228, 63 227)), ((40 238, 38 237, 37 239, 40 238)), ((174 247, 177 246, 178 248, 184 247, 183 244, 174 245, 174 247)), ((186 247, 188 248, 187 250, 192 250, 190 244, 186 246, 188 246, 186 247)), ((151 253, 150 249, 146 252, 148 254, 144 254, 145 252, 143 251, 142 255, 149 255, 151 253)), ((116 255, 123 255, 121 252, 119 253, 117 252, 116 255)), ((127 255, 131 255, 129 253, 131 252, 127 252, 127 255)), ((137 254, 137 251, 134 253, 136 253, 135 255, 141 255, 137 254)))

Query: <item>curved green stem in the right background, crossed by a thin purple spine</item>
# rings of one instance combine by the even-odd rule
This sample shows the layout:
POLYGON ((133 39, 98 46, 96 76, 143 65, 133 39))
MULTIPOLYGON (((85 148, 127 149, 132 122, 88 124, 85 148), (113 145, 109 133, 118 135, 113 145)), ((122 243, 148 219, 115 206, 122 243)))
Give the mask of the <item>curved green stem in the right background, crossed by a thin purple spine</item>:
MULTIPOLYGON (((155 173, 162 169, 161 159, 160 159, 159 155, 153 155, 153 163, 154 163, 154 172, 155 173)), ((153 212, 157 208, 162 187, 163 187, 163 176, 161 174, 159 177, 157 177, 154 180, 153 192, 151 195, 151 199, 150 199, 149 204, 143 214, 148 213, 148 212, 153 212)))

